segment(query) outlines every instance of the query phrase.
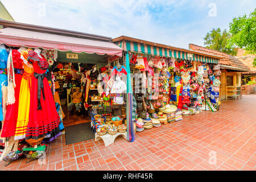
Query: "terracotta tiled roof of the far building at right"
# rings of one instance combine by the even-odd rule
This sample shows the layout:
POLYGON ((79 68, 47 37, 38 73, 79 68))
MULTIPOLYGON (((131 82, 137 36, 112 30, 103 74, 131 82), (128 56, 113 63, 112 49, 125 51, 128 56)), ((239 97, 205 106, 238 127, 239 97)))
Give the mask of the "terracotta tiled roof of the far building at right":
POLYGON ((236 59, 236 57, 234 57, 232 55, 228 55, 227 53, 215 51, 213 49, 208 49, 208 48, 201 47, 201 46, 197 46, 195 44, 189 44, 189 47, 193 51, 199 51, 199 52, 208 53, 211 55, 221 56, 222 59, 220 59, 220 64, 222 64, 222 65, 229 65, 231 67, 247 69, 247 71, 250 71, 249 67, 247 67, 245 64, 243 64, 240 60, 236 59))

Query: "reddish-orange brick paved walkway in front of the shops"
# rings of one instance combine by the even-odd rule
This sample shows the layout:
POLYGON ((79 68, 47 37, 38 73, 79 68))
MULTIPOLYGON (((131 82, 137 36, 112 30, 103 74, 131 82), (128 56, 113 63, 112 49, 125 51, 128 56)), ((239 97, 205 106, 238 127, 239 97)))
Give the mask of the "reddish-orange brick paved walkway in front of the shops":
POLYGON ((135 142, 117 138, 51 143, 46 164, 26 159, 0 162, 1 170, 255 170, 256 95, 224 101, 218 113, 204 111, 183 121, 136 133, 135 142), (210 152, 210 153, 209 153, 210 152), (216 152, 216 164, 211 154, 216 152), (209 155, 210 154, 210 155, 209 155), (210 163, 209 163, 210 161, 210 163))

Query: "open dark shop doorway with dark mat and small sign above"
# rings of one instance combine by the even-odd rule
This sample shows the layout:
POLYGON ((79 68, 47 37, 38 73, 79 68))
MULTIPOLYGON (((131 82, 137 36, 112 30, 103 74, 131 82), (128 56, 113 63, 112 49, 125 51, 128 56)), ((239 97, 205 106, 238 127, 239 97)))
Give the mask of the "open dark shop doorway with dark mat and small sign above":
POLYGON ((53 70, 55 89, 63 110, 63 125, 65 127, 66 143, 77 143, 93 139, 91 129, 92 106, 100 105, 92 100, 92 96, 101 96, 103 89, 100 83, 101 68, 108 67, 108 55, 96 53, 73 53, 58 51, 57 67, 53 70), (90 81, 87 83, 86 76, 90 81), (94 88, 88 86, 96 85, 94 88), (86 99, 86 91, 88 98, 86 99))

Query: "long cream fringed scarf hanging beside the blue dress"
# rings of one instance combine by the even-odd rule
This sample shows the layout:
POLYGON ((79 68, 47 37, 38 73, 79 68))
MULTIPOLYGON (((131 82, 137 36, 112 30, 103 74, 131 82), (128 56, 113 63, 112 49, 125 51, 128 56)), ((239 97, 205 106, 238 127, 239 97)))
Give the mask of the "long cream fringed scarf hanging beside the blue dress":
POLYGON ((8 60, 7 60, 7 77, 8 77, 8 85, 7 85, 7 101, 6 105, 14 104, 15 102, 15 74, 13 67, 13 53, 10 51, 8 60))

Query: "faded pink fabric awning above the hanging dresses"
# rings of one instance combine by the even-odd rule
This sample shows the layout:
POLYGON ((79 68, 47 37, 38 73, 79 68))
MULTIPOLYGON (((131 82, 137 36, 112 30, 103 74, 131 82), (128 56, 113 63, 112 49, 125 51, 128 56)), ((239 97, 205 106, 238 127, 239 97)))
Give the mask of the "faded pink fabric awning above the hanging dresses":
POLYGON ((14 47, 30 47, 44 49, 58 49, 59 51, 97 53, 98 55, 122 56, 122 49, 111 42, 75 38, 21 30, 17 28, 0 29, 0 44, 14 47))

